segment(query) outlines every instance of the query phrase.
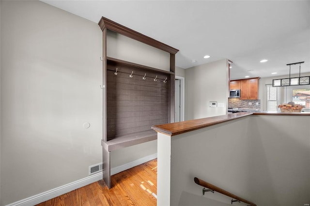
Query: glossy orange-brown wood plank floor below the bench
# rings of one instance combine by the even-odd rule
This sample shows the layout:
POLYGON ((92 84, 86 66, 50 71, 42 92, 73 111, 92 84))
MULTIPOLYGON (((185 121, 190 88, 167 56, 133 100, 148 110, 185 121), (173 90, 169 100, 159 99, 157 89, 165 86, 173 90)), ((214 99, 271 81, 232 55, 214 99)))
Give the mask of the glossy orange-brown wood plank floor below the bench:
POLYGON ((156 206, 157 159, 70 191, 36 206, 156 206))

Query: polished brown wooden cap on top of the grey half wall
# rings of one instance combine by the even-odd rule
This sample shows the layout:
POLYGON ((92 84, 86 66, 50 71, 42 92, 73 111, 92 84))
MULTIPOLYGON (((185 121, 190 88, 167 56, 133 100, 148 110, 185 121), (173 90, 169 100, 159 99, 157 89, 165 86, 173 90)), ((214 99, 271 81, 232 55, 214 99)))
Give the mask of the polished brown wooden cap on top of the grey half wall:
POLYGON ((282 112, 238 112, 210 118, 193 119, 170 124, 160 124, 152 127, 156 132, 161 132, 170 136, 182 134, 194 130, 199 130, 212 125, 243 118, 251 115, 276 115, 276 116, 310 116, 310 113, 282 113, 282 112))

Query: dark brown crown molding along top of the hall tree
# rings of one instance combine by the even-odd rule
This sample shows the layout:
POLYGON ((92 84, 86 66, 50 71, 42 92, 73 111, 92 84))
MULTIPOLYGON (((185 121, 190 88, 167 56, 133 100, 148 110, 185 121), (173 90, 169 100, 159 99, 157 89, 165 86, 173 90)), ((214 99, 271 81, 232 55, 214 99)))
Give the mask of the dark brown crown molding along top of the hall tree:
POLYGON ((150 46, 153 46, 157 49, 169 52, 171 54, 176 54, 179 50, 176 48, 173 48, 167 44, 161 43, 155 39, 152 39, 148 36, 145 36, 144 34, 141 34, 133 29, 129 29, 121 24, 118 24, 108 18, 101 17, 98 25, 100 26, 101 30, 103 31, 105 28, 110 29, 112 31, 115 31, 117 33, 120 33, 126 37, 129 37, 131 39, 137 40, 139 42, 142 42, 144 44, 148 44, 150 46))

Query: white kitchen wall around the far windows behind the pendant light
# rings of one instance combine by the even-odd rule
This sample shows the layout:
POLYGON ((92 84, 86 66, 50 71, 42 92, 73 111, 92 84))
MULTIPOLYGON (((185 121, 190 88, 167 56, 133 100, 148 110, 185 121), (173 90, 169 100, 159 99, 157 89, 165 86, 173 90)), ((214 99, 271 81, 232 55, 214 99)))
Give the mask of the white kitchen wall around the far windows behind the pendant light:
MULTIPOLYGON (((292 74, 291 77, 297 77, 299 74, 292 74)), ((310 76, 310 73, 303 73, 300 74, 300 76, 310 76)), ((273 79, 282 79, 282 78, 288 78, 288 75, 285 76, 273 76, 273 77, 265 77, 260 79, 260 84, 259 84, 259 97, 261 100, 261 110, 266 110, 266 85, 272 85, 272 80, 273 79)), ((309 88, 310 86, 296 86, 295 88, 309 88)), ((293 86, 289 87, 280 87, 280 103, 288 103, 292 100, 287 99, 287 96, 290 96, 292 94, 292 89, 293 86), (288 90, 287 90, 288 89, 288 90)))

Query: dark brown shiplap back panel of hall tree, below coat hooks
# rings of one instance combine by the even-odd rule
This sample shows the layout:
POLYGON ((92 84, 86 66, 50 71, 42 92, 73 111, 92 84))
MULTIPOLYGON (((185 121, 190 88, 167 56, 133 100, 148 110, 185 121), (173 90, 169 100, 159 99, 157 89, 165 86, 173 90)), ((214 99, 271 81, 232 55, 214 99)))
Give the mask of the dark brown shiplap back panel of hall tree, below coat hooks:
POLYGON ((117 136, 150 130, 152 125, 169 122, 168 74, 130 66, 108 64, 107 132, 108 140, 117 136), (133 77, 129 74, 134 71, 133 77), (142 79, 146 74, 146 79, 142 79), (157 81, 154 81, 157 75, 157 81))

